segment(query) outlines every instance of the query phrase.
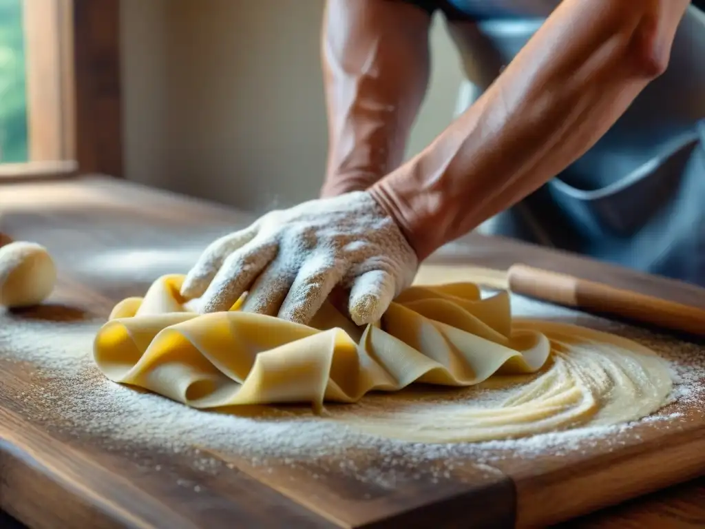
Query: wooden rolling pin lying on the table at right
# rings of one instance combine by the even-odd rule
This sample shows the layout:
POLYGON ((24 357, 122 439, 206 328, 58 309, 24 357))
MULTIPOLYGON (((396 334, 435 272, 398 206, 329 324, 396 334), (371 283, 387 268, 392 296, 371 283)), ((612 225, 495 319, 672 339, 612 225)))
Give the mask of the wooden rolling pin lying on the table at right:
POLYGON ((705 309, 690 305, 525 265, 513 265, 507 272, 473 269, 471 276, 477 284, 529 298, 705 336, 705 309))

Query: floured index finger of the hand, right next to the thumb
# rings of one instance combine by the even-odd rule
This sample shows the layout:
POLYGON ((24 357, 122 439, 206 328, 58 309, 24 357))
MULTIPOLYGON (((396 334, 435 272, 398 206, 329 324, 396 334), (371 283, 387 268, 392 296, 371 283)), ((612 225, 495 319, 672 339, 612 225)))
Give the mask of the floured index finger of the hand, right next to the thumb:
POLYGON ((278 316, 283 320, 307 324, 333 287, 343 279, 344 270, 341 263, 324 257, 307 261, 296 275, 278 316))

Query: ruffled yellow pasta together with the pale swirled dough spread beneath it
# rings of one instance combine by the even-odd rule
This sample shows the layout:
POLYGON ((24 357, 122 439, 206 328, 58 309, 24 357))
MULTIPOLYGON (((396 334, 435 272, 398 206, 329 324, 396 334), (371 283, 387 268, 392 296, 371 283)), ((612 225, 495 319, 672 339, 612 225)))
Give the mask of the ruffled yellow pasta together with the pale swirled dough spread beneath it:
POLYGON ((492 375, 523 377, 496 408, 462 406, 443 420, 443 406, 386 413, 362 399, 329 407, 333 420, 428 442, 630 420, 655 411, 670 391, 666 367, 648 349, 580 327, 513 321, 508 293, 482 299, 474 284, 412 286, 379 322, 360 328, 327 302, 310 326, 241 312, 242 298, 228 312, 199 315, 180 297, 182 281, 163 276, 144 298, 116 305, 94 342, 106 377, 195 408, 312 403, 317 410, 414 383, 462 388, 492 375))

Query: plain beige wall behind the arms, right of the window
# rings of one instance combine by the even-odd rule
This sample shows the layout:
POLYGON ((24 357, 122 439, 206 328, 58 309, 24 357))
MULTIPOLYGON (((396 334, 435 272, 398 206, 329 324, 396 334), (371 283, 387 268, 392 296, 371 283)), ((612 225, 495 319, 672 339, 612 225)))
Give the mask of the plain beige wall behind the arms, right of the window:
MULTIPOLYGON (((261 211, 314 197, 326 116, 323 0, 123 0, 128 178, 261 211)), ((417 152, 447 125, 460 84, 441 20, 417 152)))

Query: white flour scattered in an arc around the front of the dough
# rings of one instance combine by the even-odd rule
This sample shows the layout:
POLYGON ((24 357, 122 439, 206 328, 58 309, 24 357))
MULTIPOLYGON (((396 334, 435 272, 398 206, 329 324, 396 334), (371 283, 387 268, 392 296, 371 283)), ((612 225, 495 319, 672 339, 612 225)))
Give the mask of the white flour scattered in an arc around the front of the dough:
MULTIPOLYGON (((205 472, 222 465, 223 459, 228 461, 228 454, 247 458, 253 466, 271 461, 295 465, 335 459, 343 461, 341 465, 353 465, 345 470, 358 480, 380 486, 393 486, 396 472, 417 475, 415 468, 425 463, 438 463, 432 473, 434 479, 443 479, 458 459, 492 465, 510 458, 587 454, 591 446, 614 450, 638 441, 638 435, 631 430, 639 422, 640 428, 657 422, 654 427, 661 429, 679 427, 705 398, 704 346, 523 298, 513 298, 513 305, 513 312, 518 315, 555 316, 575 324, 587 324, 589 319, 591 327, 653 348, 673 372, 671 400, 677 403, 642 421, 523 439, 475 444, 395 442, 361 434, 338 422, 319 420, 309 408, 258 408, 257 413, 252 413, 252 409, 197 411, 115 384, 97 370, 92 360, 92 341, 103 320, 47 322, 10 312, 0 312, 0 369, 28 377, 22 386, 6 384, 4 388, 5 393, 15 391, 17 413, 63 436, 90 437, 92 443, 109 451, 124 453, 125 446, 134 446, 135 456, 147 453, 140 450, 145 447, 149 453, 185 454, 197 470, 205 472), (680 411, 674 411, 675 406, 680 411), (382 458, 388 470, 374 475, 369 468, 355 467, 355 461, 345 458, 351 449, 355 450, 355 461, 382 458)), ((161 466, 155 470, 161 470, 161 466)), ((185 486, 194 487, 191 482, 185 486)))

